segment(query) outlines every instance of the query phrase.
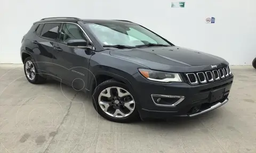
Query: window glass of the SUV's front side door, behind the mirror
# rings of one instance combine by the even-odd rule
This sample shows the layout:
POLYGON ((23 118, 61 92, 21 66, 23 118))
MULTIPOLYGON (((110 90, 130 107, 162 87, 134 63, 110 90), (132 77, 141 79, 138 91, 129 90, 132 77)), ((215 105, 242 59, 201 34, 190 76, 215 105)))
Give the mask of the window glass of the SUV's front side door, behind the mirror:
POLYGON ((71 39, 84 39, 86 37, 84 32, 79 28, 76 24, 72 23, 63 23, 61 33, 60 33, 60 41, 67 43, 68 40, 71 39))

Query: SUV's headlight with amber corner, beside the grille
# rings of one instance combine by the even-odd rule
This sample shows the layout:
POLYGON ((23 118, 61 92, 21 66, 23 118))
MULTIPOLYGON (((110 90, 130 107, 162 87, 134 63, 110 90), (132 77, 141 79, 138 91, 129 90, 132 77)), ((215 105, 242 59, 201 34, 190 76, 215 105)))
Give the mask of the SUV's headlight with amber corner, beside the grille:
POLYGON ((151 81, 158 82, 182 82, 181 76, 179 73, 170 73, 170 72, 159 72, 148 69, 139 69, 139 72, 143 77, 151 81))

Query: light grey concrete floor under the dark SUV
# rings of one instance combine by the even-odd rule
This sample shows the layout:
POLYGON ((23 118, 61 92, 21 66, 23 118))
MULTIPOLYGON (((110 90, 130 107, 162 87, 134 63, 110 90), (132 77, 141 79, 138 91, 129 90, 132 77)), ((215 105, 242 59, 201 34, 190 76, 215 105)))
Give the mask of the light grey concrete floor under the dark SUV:
POLYGON ((230 101, 172 121, 113 123, 85 94, 34 85, 23 65, 0 65, 0 152, 256 152, 256 71, 233 66, 230 101))

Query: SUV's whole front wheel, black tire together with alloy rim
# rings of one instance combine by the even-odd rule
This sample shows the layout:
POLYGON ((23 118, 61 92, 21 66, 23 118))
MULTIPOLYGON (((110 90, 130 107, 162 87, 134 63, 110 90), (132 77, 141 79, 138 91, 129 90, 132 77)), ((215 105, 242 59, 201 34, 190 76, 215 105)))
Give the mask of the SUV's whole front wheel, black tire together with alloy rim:
POLYGON ((139 113, 137 111, 137 107, 135 104, 136 100, 134 99, 134 96, 132 96, 132 94, 130 94, 130 95, 129 94, 130 94, 130 91, 124 83, 121 83, 121 82, 111 79, 111 80, 107 80, 105 82, 100 83, 99 86, 97 86, 95 88, 93 95, 92 95, 92 97, 93 97, 92 103, 93 103, 95 110, 98 112, 98 114, 100 114, 102 117, 106 118, 109 121, 119 122, 119 123, 127 123, 127 122, 137 121, 139 119, 139 113), (115 90, 116 90, 116 94, 118 96, 112 95, 111 98, 102 96, 103 91, 105 91, 107 93, 106 95, 108 95, 108 91, 115 92, 115 90), (124 95, 126 95, 126 96, 123 96, 120 98, 119 95, 121 95, 121 94, 118 94, 117 90, 119 90, 120 92, 118 92, 118 93, 121 93, 121 94, 123 94, 124 91, 127 91, 127 92, 124 92, 125 93, 124 95), (116 102, 116 100, 114 100, 115 98, 113 99, 113 97, 115 97, 115 98, 119 97, 118 100, 120 102, 116 102), (106 100, 102 100, 102 101, 108 101, 108 102, 106 102, 107 104, 104 103, 104 105, 100 106, 99 99, 101 99, 101 98, 105 98, 105 99, 107 98, 106 100), (128 99, 127 100, 127 101, 129 101, 128 103, 124 102, 125 98, 128 99), (109 102, 109 99, 110 99, 110 102, 109 102), (106 106, 108 105, 107 109, 106 109, 107 111, 103 111, 103 109, 106 108, 105 104, 106 104, 106 106), (119 105, 119 106, 117 106, 117 105, 119 105), (125 107, 125 106, 127 106, 127 107, 125 107), (105 108, 102 108, 102 107, 105 107, 105 108), (117 109, 119 108, 118 110, 121 111, 120 112, 121 114, 115 114, 116 110, 117 110, 117 109, 115 109, 115 107, 117 107, 117 109), (133 109, 133 111, 131 111, 131 109, 133 109), (124 116, 124 114, 127 116, 124 116))

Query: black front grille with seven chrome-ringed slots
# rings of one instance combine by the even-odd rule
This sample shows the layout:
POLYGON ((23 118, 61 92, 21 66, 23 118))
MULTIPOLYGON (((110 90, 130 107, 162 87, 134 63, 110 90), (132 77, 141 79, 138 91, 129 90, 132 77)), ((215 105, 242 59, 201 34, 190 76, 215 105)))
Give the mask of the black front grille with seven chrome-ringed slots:
POLYGON ((228 78, 231 76, 229 67, 223 67, 219 70, 197 72, 197 73, 186 73, 188 82, 190 84, 207 83, 218 81, 221 79, 228 78))

